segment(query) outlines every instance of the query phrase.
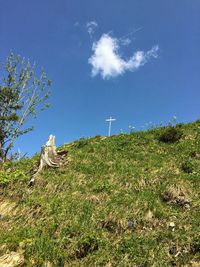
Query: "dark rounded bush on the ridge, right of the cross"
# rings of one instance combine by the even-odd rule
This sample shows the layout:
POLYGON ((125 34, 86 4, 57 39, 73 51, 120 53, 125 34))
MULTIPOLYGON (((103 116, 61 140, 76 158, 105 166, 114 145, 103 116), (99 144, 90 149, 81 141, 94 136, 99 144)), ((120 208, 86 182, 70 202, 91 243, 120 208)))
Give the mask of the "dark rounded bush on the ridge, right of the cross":
POLYGON ((165 128, 163 132, 159 135, 158 139, 164 143, 175 143, 182 137, 182 131, 174 126, 165 128))

